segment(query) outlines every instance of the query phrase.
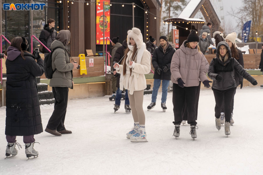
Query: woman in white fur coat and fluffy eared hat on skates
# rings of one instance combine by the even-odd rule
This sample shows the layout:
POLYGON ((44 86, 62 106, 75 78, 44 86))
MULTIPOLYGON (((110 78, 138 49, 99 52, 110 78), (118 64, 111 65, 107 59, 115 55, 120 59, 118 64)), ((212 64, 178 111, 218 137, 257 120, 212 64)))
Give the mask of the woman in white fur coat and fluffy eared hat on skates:
POLYGON ((115 63, 113 66, 117 73, 121 74, 120 89, 128 90, 131 113, 134 127, 128 132, 127 138, 131 142, 147 142, 145 132, 145 115, 143 111, 143 94, 146 88, 144 74, 151 70, 151 54, 146 50, 146 44, 140 29, 134 27, 127 35, 128 48, 125 50, 125 58, 122 65, 115 63))

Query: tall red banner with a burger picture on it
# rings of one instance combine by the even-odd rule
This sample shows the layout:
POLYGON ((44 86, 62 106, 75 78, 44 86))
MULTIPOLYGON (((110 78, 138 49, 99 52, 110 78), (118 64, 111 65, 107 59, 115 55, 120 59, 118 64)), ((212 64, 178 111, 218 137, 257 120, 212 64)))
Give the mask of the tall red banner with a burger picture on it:
POLYGON ((105 44, 110 44, 110 0, 96 0, 96 44, 103 44, 103 2, 105 2, 105 44), (100 5, 99 5, 100 4, 100 5))

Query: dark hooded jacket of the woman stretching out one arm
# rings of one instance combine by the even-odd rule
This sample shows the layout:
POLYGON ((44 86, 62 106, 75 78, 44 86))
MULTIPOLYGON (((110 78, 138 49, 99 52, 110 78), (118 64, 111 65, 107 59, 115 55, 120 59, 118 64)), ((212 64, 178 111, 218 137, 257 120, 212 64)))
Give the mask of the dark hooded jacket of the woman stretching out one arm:
POLYGON ((239 75, 244 77, 246 80, 248 80, 250 83, 256 81, 237 62, 237 60, 231 57, 231 50, 229 48, 229 45, 225 41, 218 43, 216 58, 213 58, 213 60, 211 61, 208 71, 208 77, 213 80, 212 90, 225 91, 225 90, 231 90, 236 88, 237 85, 234 76, 235 71, 239 73, 239 75), (227 48, 227 52, 229 56, 228 60, 224 63, 219 59, 219 47, 221 45, 224 45, 227 48), (221 81, 216 80, 216 77, 218 75, 222 77, 221 81))

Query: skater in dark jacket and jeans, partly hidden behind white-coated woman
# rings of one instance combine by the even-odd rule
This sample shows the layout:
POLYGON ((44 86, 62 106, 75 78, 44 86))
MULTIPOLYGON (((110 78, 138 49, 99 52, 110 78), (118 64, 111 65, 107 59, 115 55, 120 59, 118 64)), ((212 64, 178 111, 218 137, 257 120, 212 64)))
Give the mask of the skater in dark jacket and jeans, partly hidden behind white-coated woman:
MULTIPOLYGON (((124 40, 122 43, 122 46, 117 48, 114 58, 113 58, 113 65, 115 63, 122 62, 123 57, 124 57, 124 50, 128 48, 127 40, 124 40)), ((121 98, 122 98, 122 91, 120 90, 120 74, 116 72, 116 69, 113 69, 113 74, 114 76, 117 76, 117 92, 116 92, 116 98, 115 98, 115 105, 114 105, 114 110, 117 111, 120 108, 121 105, 121 98)), ((131 108, 130 108, 130 101, 128 97, 128 90, 125 90, 125 103, 124 103, 124 108, 127 113, 131 113, 131 108)))

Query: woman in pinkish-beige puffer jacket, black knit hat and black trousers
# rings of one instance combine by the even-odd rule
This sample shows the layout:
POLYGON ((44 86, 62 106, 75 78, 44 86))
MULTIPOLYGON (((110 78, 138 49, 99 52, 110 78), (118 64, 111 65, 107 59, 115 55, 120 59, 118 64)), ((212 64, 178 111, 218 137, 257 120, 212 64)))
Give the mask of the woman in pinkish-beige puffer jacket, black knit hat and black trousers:
MULTIPOLYGON (((196 31, 192 31, 187 40, 183 42, 172 58, 171 81, 173 82, 173 105, 175 131, 174 136, 180 135, 182 122, 182 109, 186 100, 188 110, 188 124, 191 125, 190 134, 196 138, 196 93, 199 86, 199 78, 209 88, 206 76, 205 61, 203 55, 198 52, 197 44, 199 37, 196 31)), ((198 127, 197 127, 198 128, 198 127)))

